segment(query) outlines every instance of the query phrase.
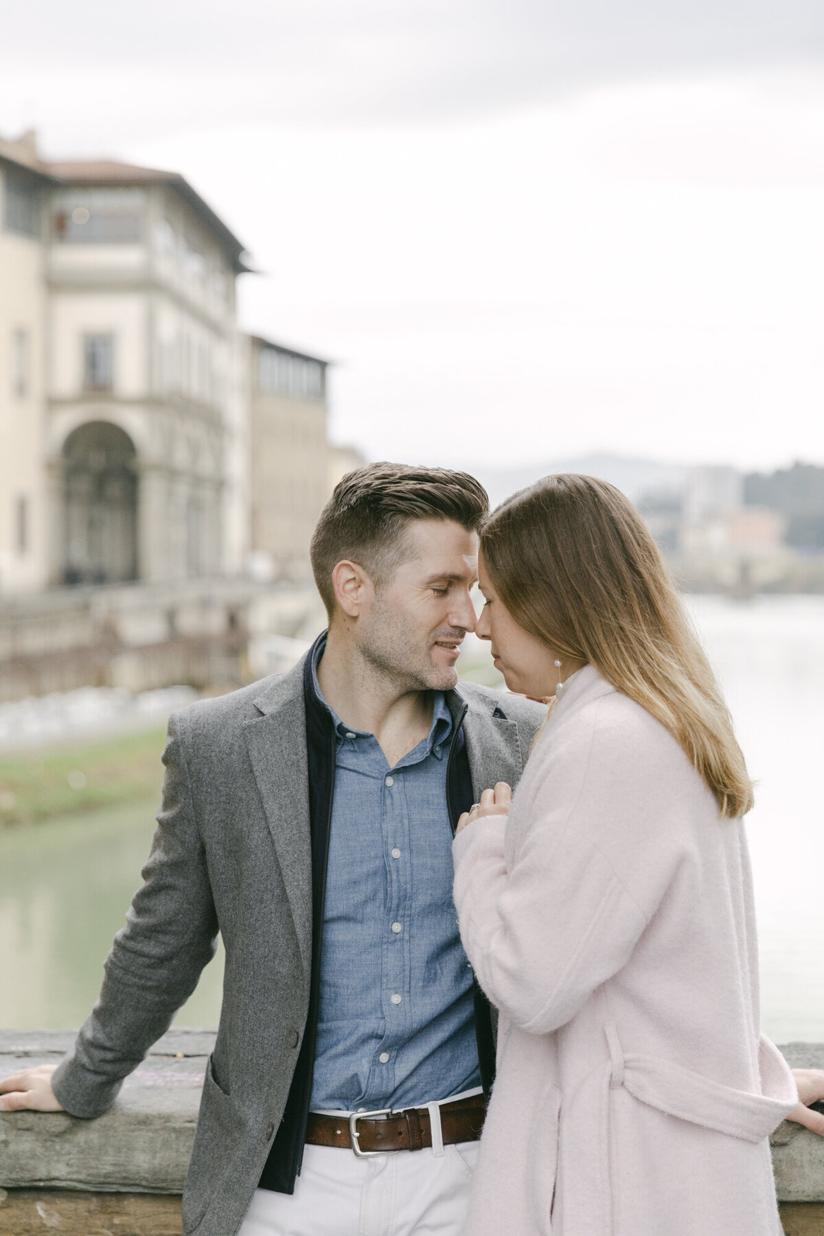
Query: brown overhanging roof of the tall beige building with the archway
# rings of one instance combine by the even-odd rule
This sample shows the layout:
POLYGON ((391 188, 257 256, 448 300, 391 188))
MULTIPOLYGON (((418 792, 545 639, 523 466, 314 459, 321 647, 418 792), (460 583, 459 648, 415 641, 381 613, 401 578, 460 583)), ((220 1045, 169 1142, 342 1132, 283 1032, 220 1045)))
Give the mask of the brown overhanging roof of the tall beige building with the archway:
POLYGON ((33 132, 26 132, 17 141, 0 138, 0 159, 15 163, 58 184, 168 184, 179 198, 194 211, 200 221, 210 229, 229 253, 237 273, 250 271, 246 263, 246 251, 237 236, 191 188, 179 172, 167 172, 161 168, 138 167, 133 163, 120 163, 115 159, 83 161, 46 161, 37 154, 37 140, 33 132))

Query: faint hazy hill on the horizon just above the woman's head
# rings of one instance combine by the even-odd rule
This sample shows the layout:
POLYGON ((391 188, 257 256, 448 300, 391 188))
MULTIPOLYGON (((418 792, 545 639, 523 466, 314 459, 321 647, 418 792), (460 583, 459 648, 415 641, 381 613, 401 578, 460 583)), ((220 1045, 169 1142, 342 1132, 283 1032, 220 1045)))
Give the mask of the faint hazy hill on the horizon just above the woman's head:
POLYGON ((550 472, 583 472, 587 476, 598 476, 616 486, 633 502, 637 502, 647 493, 658 496, 678 493, 691 470, 679 464, 660 464, 656 460, 630 459, 624 455, 593 454, 515 468, 471 467, 469 471, 487 487, 489 501, 493 507, 497 507, 510 493, 532 485, 550 472))

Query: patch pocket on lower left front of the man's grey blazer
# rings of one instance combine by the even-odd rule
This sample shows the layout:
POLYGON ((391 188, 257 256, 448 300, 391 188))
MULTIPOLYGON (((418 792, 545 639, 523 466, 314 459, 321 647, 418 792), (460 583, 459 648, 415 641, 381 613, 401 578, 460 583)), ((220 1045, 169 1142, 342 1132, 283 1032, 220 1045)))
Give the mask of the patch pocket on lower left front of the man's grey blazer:
POLYGON ((191 1162, 183 1190, 183 1230, 191 1232, 243 1146, 245 1121, 206 1060, 191 1162))

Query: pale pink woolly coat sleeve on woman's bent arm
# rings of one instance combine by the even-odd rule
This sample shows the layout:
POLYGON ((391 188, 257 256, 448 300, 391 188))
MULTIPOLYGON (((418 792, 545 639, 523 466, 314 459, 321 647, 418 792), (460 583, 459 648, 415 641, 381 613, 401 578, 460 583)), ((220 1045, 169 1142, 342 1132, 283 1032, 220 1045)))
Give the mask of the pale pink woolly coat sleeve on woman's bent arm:
POLYGON ((502 816, 476 821, 453 843, 469 962, 493 1004, 532 1033, 563 1026, 624 967, 672 876, 644 764, 631 743, 612 755, 595 747, 572 774, 563 756, 545 761, 511 849, 502 816), (602 838, 620 847, 621 874, 602 838), (636 873, 631 891, 626 869, 636 873))

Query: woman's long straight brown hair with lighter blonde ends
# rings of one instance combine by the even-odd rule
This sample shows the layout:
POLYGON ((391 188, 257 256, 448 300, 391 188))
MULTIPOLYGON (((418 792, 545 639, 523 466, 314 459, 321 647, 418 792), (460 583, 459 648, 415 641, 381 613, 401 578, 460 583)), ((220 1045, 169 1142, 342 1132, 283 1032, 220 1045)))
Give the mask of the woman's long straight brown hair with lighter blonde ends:
POLYGON ((592 476, 544 477, 493 512, 481 552, 524 630, 589 661, 666 726, 721 816, 750 810, 752 782, 715 675, 655 540, 620 489, 592 476))

